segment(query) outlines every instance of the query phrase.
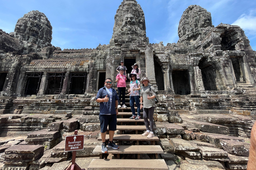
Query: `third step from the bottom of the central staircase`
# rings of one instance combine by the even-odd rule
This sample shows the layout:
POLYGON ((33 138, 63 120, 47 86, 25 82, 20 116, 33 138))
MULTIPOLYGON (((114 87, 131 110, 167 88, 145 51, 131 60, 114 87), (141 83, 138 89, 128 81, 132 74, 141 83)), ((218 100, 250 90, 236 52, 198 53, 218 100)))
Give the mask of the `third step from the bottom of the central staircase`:
MULTIPOLYGON (((101 141, 101 136, 98 138, 101 141)), ((106 141, 109 140, 109 135, 106 135, 106 141)), ((115 134, 114 141, 137 141, 137 145, 139 145, 139 141, 150 141, 151 145, 155 145, 156 141, 159 141, 158 137, 147 138, 143 137, 141 134, 115 134)))

